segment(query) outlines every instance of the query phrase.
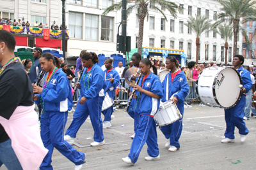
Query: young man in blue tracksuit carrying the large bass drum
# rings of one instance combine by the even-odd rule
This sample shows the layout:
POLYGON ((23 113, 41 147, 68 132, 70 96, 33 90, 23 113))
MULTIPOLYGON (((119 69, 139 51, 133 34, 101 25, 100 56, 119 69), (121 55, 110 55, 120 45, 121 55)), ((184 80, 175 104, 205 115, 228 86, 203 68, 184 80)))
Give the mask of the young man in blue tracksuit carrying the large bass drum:
POLYGON ((234 142, 235 136, 235 126, 239 129, 239 134, 241 135, 240 141, 244 142, 246 139, 246 135, 249 133, 249 130, 245 126, 243 121, 244 118, 244 107, 246 104, 245 93, 252 89, 252 80, 250 77, 250 72, 246 69, 243 69, 244 57, 243 55, 235 55, 233 57, 232 65, 239 72, 242 81, 243 81, 243 89, 241 99, 238 101, 236 106, 225 109, 225 121, 227 124, 227 128, 225 131, 225 139, 221 140, 221 143, 232 143, 234 142))

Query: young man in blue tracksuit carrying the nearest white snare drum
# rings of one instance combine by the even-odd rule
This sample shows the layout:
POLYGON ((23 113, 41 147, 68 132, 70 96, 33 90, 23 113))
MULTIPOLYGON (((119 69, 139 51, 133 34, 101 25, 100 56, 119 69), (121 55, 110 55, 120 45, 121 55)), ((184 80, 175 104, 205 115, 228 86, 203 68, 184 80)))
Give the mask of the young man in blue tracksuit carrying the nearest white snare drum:
MULTIPOLYGON (((165 64, 166 69, 171 71, 165 76, 164 81, 162 82, 164 93, 162 102, 168 101, 173 96, 172 100, 177 104, 180 114, 183 116, 184 100, 189 91, 186 75, 183 71, 177 69, 177 60, 175 57, 168 57, 165 64)), ((169 151, 178 150, 180 148, 179 138, 182 132, 182 119, 173 124, 161 127, 161 131, 165 138, 168 139, 165 147, 169 148, 169 151)))

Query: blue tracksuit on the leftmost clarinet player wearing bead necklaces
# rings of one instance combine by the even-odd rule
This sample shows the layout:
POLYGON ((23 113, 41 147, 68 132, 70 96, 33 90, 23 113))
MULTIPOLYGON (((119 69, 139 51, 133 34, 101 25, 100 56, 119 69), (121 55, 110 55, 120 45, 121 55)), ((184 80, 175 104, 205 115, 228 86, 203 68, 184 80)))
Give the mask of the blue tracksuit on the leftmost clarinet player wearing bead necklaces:
MULTIPOLYGON (((47 74, 48 75, 48 74, 47 74)), ((45 76, 45 78, 47 77, 45 76)), ((42 94, 37 94, 43 108, 41 117, 41 138, 45 148, 49 150, 40 169, 52 170, 52 151, 56 148, 67 159, 76 165, 84 164, 85 154, 77 152, 70 144, 64 141, 64 128, 67 123, 68 110, 72 109, 72 92, 67 75, 58 69, 52 75, 50 82, 42 94)))

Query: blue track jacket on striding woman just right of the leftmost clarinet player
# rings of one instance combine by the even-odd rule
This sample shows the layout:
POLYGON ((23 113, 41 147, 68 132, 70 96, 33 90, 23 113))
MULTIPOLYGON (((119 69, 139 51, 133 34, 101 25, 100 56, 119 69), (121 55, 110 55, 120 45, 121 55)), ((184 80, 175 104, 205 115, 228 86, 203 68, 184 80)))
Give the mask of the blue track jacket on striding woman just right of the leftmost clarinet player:
POLYGON ((93 99, 99 96, 106 96, 106 92, 104 92, 104 89, 106 89, 104 73, 100 66, 98 66, 97 63, 95 63, 90 71, 90 74, 88 73, 87 68, 84 68, 80 80, 81 96, 86 97, 86 99, 93 99))

